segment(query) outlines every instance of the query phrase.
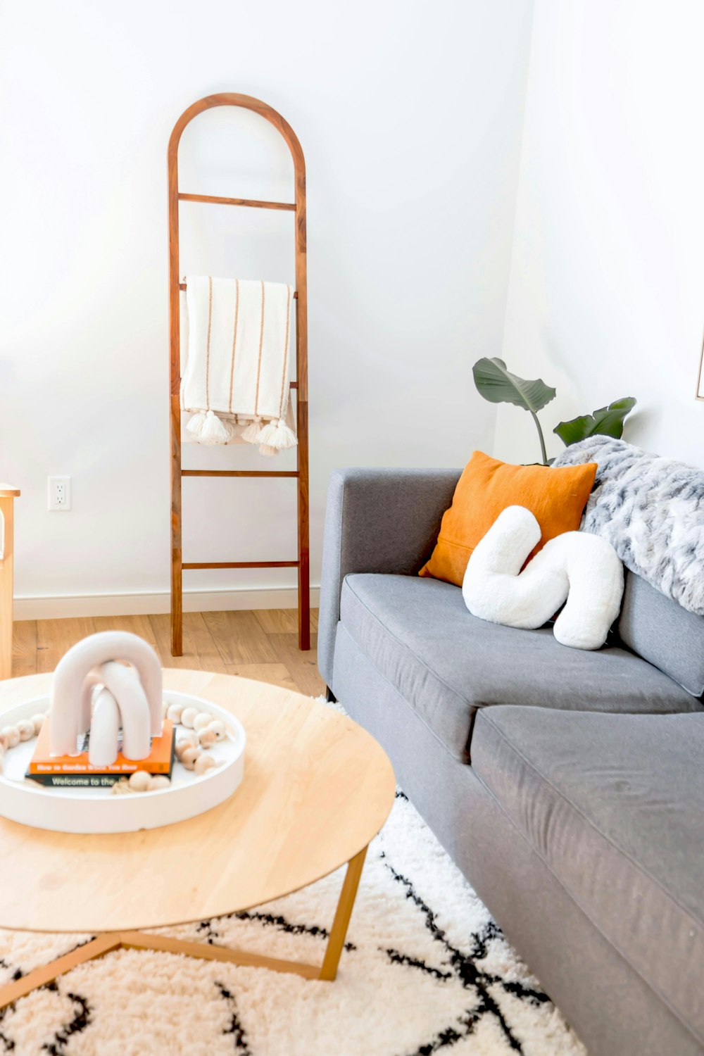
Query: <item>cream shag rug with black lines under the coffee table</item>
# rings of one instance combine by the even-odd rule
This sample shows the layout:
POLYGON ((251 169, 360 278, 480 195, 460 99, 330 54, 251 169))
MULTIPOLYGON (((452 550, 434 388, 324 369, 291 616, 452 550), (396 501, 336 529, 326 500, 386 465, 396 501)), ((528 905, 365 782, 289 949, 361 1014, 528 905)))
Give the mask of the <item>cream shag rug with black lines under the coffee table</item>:
MULTIPOLYGON (((165 934, 320 962, 343 871, 165 934)), ((0 931, 0 984, 89 936, 0 931)), ((119 949, 0 1011, 0 1056, 586 1056, 403 793, 337 981, 119 949)))

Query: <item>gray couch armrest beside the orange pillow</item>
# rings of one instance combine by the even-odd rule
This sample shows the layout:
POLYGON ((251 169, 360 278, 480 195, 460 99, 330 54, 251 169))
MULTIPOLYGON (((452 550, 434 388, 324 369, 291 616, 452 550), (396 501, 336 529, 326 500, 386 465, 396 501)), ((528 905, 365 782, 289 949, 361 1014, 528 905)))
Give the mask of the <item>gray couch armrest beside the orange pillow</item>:
POLYGON ((417 572, 435 545, 459 474, 456 469, 343 469, 332 473, 318 627, 318 667, 328 685, 332 682, 345 576, 417 572))

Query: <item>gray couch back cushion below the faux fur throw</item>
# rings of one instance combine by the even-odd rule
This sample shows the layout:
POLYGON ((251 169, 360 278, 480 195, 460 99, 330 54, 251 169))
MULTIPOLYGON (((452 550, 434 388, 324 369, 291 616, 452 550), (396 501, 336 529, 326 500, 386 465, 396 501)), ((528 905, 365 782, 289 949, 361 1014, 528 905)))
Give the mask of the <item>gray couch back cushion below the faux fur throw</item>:
POLYGON ((619 635, 687 693, 704 693, 704 617, 688 612, 635 572, 626 573, 619 635))

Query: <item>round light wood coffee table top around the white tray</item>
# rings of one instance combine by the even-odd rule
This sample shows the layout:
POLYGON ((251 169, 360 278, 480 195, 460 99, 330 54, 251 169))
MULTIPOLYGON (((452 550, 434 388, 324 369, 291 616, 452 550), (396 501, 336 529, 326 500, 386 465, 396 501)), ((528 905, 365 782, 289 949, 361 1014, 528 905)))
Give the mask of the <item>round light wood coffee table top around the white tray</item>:
MULTIPOLYGON (((45 694, 51 680, 0 682, 0 719, 45 694)), ((240 788, 198 817, 141 832, 75 835, 0 817, 0 927, 118 931, 236 912, 327 875, 384 824, 394 770, 351 719, 230 675, 167 670, 164 685, 240 719, 247 733, 240 788)))

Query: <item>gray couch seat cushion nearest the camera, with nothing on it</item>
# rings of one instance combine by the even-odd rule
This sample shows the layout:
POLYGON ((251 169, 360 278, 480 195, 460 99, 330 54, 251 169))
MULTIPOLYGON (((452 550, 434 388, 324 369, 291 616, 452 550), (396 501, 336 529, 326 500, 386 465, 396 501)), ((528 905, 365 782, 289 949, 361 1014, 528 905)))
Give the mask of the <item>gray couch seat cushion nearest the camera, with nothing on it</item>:
POLYGON ((704 714, 492 708, 472 740, 521 835, 701 1041, 703 757, 704 714))

